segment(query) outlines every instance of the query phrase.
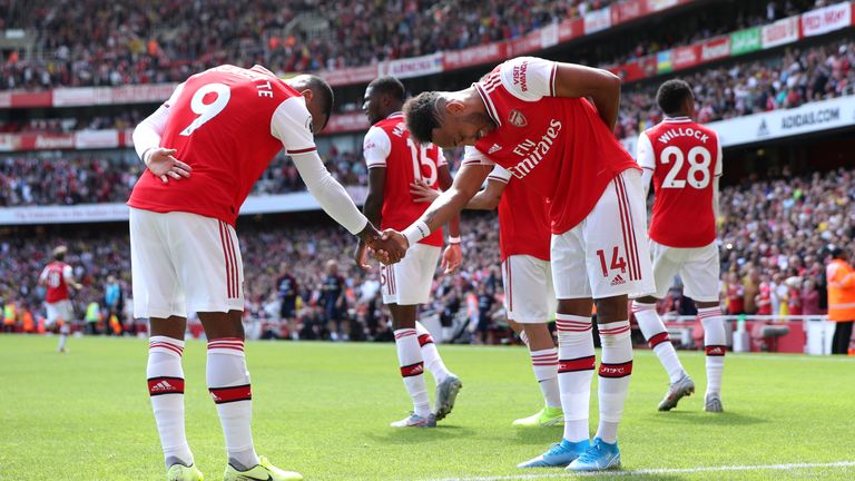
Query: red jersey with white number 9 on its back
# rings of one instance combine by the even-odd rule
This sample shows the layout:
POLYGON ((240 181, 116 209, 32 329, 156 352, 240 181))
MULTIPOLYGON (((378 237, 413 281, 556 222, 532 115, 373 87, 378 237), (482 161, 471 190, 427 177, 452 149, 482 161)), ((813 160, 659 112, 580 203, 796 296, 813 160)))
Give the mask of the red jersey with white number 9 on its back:
POLYGON ((164 104, 169 118, 160 146, 193 168, 164 184, 149 170, 128 205, 157 213, 187 212, 234 225, 253 184, 282 149, 315 150, 304 98, 261 66, 220 66, 197 73, 164 104))

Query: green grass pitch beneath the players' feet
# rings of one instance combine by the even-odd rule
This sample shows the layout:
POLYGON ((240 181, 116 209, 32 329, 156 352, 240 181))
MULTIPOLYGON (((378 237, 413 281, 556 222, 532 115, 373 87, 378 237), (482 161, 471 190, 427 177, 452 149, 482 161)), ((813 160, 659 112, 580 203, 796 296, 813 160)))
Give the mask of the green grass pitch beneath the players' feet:
MULTIPOLYGON (((55 346, 56 337, 0 336, 0 480, 164 479, 146 342, 71 338, 67 356, 55 346)), ((514 468, 561 435, 511 426, 540 408, 525 350, 440 350, 463 380, 454 412, 435 430, 393 430, 410 403, 392 344, 249 342, 258 452, 307 480, 563 478, 514 468)), ((702 393, 702 355, 681 359, 702 393)), ((622 470, 633 475, 620 479, 855 479, 854 361, 728 354, 724 414, 702 412, 698 394, 659 413, 667 376, 650 351, 636 352, 619 434, 622 470), (812 465, 769 468, 798 463, 812 465), (692 471, 709 467, 733 468, 692 471)), ((184 369, 190 448, 206 479, 222 479, 203 342, 187 343, 184 369)))

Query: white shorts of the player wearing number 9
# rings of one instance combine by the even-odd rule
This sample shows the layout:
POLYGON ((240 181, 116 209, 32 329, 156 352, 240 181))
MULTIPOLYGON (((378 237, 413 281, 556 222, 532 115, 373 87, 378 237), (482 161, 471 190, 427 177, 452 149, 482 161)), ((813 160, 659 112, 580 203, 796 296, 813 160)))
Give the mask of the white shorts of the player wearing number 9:
POLYGON ((131 208, 130 268, 135 317, 244 310, 240 247, 223 220, 131 208))

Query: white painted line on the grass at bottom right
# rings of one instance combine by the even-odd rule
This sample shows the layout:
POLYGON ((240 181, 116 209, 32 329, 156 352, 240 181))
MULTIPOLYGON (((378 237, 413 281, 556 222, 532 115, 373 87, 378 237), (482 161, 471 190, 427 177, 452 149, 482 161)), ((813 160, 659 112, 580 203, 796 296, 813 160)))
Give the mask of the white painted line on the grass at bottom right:
POLYGON ((729 465, 729 467, 701 467, 701 468, 662 468, 645 469, 635 471, 597 471, 573 473, 563 471, 551 474, 511 474, 497 477, 475 477, 475 478, 442 478, 425 481, 515 481, 515 480, 538 480, 546 478, 591 478, 591 477, 636 477, 651 474, 692 474, 699 472, 723 472, 723 471, 772 471, 790 469, 810 469, 810 468, 853 468, 855 461, 838 461, 831 463, 789 463, 789 464, 755 464, 755 465, 729 465))

